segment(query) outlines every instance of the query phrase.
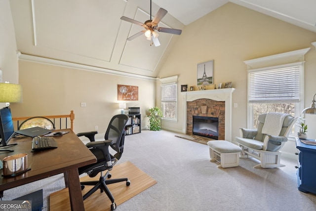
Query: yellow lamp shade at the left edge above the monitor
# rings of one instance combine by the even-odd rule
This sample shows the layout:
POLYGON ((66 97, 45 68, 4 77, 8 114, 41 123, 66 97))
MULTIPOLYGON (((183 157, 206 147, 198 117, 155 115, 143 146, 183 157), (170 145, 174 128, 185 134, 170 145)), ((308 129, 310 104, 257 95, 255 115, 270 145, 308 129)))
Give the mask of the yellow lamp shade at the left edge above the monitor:
POLYGON ((22 86, 19 84, 0 83, 0 102, 16 103, 22 98, 22 86))

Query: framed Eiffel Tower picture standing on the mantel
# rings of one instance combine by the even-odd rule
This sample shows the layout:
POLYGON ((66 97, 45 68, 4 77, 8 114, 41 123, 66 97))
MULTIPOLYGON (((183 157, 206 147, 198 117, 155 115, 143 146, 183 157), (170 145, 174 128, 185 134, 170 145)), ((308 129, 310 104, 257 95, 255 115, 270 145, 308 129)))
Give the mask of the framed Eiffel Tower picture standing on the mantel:
POLYGON ((197 86, 214 83, 214 60, 197 64, 197 86))

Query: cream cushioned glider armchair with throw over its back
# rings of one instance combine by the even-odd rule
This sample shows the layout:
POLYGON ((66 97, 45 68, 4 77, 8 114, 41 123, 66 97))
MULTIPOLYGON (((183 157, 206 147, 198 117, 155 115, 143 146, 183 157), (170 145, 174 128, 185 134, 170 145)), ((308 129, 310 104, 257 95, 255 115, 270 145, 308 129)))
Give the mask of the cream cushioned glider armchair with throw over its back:
POLYGON ((260 161, 262 168, 278 168, 281 152, 279 151, 295 124, 297 118, 281 113, 259 115, 257 129, 240 128, 240 137, 235 141, 241 147, 240 158, 251 156, 260 161), (265 125, 266 124, 266 125, 265 125), (269 134, 269 130, 271 133, 269 134))

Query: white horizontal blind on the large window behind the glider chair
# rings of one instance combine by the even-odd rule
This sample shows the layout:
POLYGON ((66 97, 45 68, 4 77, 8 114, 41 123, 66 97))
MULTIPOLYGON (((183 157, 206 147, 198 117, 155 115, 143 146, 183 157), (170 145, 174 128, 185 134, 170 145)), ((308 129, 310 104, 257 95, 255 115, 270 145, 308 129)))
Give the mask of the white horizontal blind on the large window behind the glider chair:
POLYGON ((260 102, 298 102, 301 65, 249 72, 248 100, 260 102))

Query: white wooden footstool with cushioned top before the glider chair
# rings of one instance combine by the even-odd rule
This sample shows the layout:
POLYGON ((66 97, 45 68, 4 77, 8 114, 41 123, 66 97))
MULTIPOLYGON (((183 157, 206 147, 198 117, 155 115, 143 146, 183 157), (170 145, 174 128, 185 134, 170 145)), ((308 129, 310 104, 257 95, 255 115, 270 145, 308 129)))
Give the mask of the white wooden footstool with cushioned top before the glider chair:
POLYGON ((224 140, 208 141, 210 161, 220 163, 217 167, 228 168, 239 165, 241 148, 236 144, 224 140))

